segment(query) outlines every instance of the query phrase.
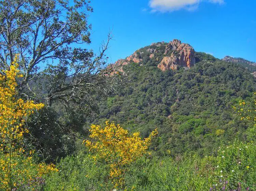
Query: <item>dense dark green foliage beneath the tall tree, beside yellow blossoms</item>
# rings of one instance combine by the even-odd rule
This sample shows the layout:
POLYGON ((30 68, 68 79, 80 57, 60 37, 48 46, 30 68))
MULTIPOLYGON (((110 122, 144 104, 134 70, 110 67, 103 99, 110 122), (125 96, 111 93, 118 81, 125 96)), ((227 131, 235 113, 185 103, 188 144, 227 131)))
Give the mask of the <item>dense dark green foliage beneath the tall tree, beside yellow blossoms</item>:
POLYGON ((66 129, 58 121, 52 108, 44 107, 32 115, 28 121, 29 134, 26 134, 26 144, 33 144, 39 159, 45 162, 55 162, 75 151, 75 136, 68 135, 66 129))

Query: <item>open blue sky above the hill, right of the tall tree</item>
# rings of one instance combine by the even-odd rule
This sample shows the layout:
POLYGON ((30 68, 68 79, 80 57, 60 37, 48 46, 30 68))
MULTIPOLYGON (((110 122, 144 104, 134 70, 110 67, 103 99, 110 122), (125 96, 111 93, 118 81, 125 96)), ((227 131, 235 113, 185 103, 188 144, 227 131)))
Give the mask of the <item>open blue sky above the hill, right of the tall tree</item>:
POLYGON ((109 62, 175 38, 217 58, 256 62, 255 0, 94 0, 91 5, 90 48, 97 52, 113 28, 109 62))

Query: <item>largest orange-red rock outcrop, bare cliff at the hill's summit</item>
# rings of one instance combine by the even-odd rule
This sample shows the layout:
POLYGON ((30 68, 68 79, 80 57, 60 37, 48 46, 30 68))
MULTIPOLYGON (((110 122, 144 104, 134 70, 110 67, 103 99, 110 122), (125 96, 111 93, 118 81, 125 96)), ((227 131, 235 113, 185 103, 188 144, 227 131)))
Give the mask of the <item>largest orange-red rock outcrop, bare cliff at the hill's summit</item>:
POLYGON ((181 41, 177 39, 168 43, 164 54, 171 55, 163 57, 162 61, 157 65, 162 71, 177 69, 177 66, 190 68, 194 66, 196 62, 193 47, 189 44, 181 43, 181 41))

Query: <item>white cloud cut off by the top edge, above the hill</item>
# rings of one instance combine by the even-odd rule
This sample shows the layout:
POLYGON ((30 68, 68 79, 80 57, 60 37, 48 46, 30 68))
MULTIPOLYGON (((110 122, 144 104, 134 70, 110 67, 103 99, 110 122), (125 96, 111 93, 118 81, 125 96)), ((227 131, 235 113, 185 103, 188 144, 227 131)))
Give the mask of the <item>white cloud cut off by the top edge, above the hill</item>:
MULTIPOLYGON (((203 0, 150 0, 149 6, 153 12, 167 12, 176 11, 180 9, 186 9, 188 11, 194 11, 198 8, 198 5, 203 0)), ((211 3, 223 4, 224 0, 205 0, 211 3)))

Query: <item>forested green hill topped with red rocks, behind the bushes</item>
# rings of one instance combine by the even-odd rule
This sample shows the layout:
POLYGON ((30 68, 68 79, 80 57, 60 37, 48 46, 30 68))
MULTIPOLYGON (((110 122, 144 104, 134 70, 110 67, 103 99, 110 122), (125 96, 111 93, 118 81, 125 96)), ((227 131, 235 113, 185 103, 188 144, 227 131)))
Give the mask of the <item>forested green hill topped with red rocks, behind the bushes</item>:
POLYGON ((250 102, 256 91, 244 67, 180 40, 153 43, 109 67, 129 76, 129 87, 108 99, 98 95, 99 115, 89 124, 110 120, 143 137, 158 127, 152 147, 159 155, 170 150, 203 156, 216 152, 221 141, 246 139, 248 124, 232 109, 240 99, 250 102))

